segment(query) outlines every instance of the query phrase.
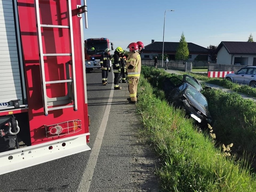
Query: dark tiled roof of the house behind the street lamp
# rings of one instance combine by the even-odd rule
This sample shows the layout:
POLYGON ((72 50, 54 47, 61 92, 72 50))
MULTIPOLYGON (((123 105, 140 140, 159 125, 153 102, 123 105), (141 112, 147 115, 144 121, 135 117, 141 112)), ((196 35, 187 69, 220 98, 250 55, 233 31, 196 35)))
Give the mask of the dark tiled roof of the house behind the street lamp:
MULTIPOLYGON (((176 52, 178 49, 179 42, 164 42, 164 51, 176 52)), ((205 47, 194 43, 187 43, 188 51, 192 52, 205 52, 208 53, 209 50, 205 47)), ((151 44, 145 46, 145 51, 163 51, 163 42, 155 41, 151 44)))

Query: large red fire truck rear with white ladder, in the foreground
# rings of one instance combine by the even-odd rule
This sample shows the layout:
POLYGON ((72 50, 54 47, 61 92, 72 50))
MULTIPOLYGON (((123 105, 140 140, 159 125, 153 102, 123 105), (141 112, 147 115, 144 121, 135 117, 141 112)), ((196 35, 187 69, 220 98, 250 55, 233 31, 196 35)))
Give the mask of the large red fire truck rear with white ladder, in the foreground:
POLYGON ((0 0, 0 174, 90 150, 86 11, 86 0, 0 0))

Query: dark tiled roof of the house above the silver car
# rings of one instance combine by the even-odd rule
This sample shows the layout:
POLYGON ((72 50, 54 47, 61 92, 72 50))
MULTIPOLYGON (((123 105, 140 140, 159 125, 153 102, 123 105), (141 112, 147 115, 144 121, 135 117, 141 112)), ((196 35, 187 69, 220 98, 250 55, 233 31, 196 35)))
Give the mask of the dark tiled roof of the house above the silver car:
POLYGON ((229 54, 256 54, 256 42, 221 41, 217 51, 224 46, 229 54))

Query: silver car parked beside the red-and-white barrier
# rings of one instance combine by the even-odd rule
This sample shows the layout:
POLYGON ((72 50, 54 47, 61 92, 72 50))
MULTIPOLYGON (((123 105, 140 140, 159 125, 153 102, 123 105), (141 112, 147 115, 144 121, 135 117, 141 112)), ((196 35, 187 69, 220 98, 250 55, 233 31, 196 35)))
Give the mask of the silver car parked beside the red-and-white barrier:
POLYGON ((230 73, 225 76, 225 79, 233 83, 249 85, 256 87, 256 66, 243 67, 235 73, 230 73))

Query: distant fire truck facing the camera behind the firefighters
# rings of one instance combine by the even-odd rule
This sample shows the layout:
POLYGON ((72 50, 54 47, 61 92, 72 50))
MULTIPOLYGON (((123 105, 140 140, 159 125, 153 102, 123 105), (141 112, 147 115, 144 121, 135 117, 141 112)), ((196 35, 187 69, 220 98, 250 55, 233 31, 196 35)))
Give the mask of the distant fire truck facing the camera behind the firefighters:
POLYGON ((100 69, 100 57, 106 48, 114 50, 114 44, 108 38, 90 38, 84 41, 86 71, 91 72, 93 68, 100 69))

